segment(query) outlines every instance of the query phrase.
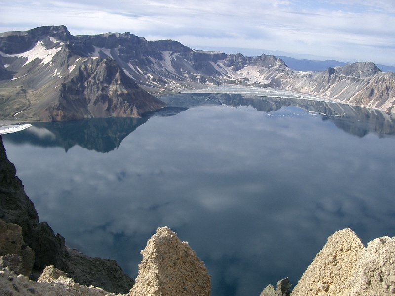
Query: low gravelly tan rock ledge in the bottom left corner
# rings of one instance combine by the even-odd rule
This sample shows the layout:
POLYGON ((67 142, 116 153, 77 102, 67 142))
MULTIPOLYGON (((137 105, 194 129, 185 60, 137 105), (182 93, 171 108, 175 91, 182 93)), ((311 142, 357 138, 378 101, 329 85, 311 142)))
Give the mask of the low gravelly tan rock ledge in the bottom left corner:
POLYGON ((45 268, 38 282, 16 275, 8 268, 0 270, 0 295, 6 296, 115 296, 93 286, 79 285, 53 266, 45 268))

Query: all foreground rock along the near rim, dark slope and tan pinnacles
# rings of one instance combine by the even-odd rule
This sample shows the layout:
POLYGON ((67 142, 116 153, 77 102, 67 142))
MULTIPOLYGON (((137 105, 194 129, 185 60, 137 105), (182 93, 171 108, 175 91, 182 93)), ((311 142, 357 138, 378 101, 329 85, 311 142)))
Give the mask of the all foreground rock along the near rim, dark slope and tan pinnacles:
MULTIPOLYGON (((62 236, 39 223, 15 174, 0 136, 0 295, 210 295, 203 262, 167 227, 158 228, 142 251, 135 284, 115 261, 68 249, 62 236)), ((347 228, 328 238, 292 292, 283 279, 260 296, 394 295, 394 263, 395 237, 376 238, 365 247, 347 228)))

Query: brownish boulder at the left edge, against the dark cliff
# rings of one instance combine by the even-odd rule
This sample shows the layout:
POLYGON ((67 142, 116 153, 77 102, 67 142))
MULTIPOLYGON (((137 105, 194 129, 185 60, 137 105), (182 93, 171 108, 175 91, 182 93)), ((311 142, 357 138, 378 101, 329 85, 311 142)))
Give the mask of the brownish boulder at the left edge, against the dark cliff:
POLYGON ((13 272, 25 276, 29 276, 32 272, 35 254, 23 241, 22 227, 12 223, 5 223, 1 219, 0 256, 2 257, 0 259, 2 267, 9 266, 13 272), (10 257, 10 254, 13 257, 10 257))

